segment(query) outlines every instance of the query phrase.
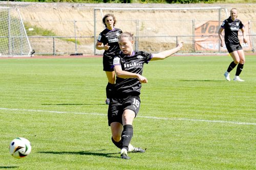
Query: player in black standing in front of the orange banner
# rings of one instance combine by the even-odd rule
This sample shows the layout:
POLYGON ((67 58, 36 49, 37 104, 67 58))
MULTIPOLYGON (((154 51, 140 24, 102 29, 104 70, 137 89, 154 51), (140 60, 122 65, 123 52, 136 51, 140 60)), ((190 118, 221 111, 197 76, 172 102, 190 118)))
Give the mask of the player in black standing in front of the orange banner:
POLYGON ((238 64, 236 76, 234 77, 233 80, 243 82, 244 80, 240 79, 239 75, 244 67, 245 56, 244 56, 243 48, 238 39, 239 29, 241 29, 243 33, 244 43, 247 43, 247 40, 245 37, 246 35, 245 35, 244 25, 241 22, 241 20, 237 19, 237 17, 238 17, 237 9, 232 8, 230 10, 230 17, 223 21, 221 28, 219 29, 219 37, 221 40, 221 46, 223 46, 224 41, 221 33, 223 30, 225 30, 225 37, 224 37, 225 44, 226 44, 228 53, 233 59, 233 61, 228 66, 227 71, 224 73, 226 80, 230 81, 229 72, 238 64))

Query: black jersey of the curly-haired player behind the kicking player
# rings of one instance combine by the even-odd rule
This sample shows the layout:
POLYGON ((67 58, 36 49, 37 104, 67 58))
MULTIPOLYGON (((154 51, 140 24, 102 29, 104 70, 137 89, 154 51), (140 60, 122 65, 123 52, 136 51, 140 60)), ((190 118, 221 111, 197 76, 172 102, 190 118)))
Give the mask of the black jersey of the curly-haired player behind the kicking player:
POLYGON ((109 50, 104 51, 104 56, 112 57, 116 53, 120 52, 118 36, 121 33, 122 30, 114 28, 114 30, 105 29, 99 34, 98 41, 102 42, 104 45, 108 43, 110 46, 109 50))

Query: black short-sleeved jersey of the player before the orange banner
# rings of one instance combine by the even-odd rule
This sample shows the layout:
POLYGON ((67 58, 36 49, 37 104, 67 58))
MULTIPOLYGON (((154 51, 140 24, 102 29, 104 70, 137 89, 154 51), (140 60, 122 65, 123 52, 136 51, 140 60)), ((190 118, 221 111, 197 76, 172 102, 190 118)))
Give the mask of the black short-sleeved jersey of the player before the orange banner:
POLYGON ((239 19, 235 19, 234 21, 231 17, 225 19, 221 25, 221 27, 225 30, 225 42, 226 43, 234 43, 238 44, 238 31, 244 27, 243 23, 239 19))

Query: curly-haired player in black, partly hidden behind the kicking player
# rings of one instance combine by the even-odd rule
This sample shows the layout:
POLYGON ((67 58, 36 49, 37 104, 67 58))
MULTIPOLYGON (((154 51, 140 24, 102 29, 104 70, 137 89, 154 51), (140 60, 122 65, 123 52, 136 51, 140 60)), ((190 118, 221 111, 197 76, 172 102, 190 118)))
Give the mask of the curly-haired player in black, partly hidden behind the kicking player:
POLYGON ((106 104, 109 104, 109 99, 111 97, 111 91, 113 85, 115 84, 115 72, 114 69, 111 68, 113 64, 113 58, 115 54, 120 52, 120 48, 118 45, 118 35, 122 33, 122 31, 118 28, 115 28, 116 18, 114 14, 106 14, 102 18, 102 22, 105 25, 105 29, 99 34, 96 49, 104 50, 103 53, 103 70, 106 73, 106 77, 108 78, 108 85, 106 85, 106 104))

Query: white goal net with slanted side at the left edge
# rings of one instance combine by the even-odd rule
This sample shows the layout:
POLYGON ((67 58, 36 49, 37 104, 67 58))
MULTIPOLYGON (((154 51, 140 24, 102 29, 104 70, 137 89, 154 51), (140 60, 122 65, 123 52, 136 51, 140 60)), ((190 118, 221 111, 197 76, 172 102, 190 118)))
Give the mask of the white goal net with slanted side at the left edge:
POLYGON ((0 57, 30 57, 31 52, 19 10, 0 7, 0 57))

